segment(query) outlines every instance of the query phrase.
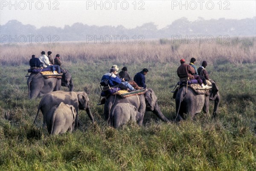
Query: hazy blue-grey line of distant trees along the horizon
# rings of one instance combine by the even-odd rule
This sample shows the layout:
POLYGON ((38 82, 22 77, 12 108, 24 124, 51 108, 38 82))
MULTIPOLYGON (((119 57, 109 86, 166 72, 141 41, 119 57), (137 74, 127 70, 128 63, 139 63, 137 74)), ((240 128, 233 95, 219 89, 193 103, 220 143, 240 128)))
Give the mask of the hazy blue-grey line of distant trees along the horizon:
MULTIPOLYGON (((220 18, 218 20, 204 20, 200 17, 198 20, 189 21, 183 17, 175 20, 172 24, 163 29, 157 29, 154 23, 144 23, 133 29, 126 29, 124 26, 89 26, 83 23, 74 23, 72 26, 65 25, 64 28, 55 26, 46 26, 36 29, 30 24, 24 25, 17 20, 10 20, 4 25, 0 26, 0 41, 1 43, 8 43, 8 39, 14 42, 15 36, 30 38, 31 41, 86 41, 88 35, 90 38, 104 38, 104 36, 113 37, 115 35, 126 35, 130 39, 134 35, 143 35, 145 39, 152 38, 172 38, 173 35, 212 35, 218 37, 219 35, 233 36, 255 36, 256 35, 256 17, 245 18, 241 20, 220 18), (23 36, 22 36, 23 35, 23 36)), ((23 38, 24 39, 24 38, 23 38)), ((28 42, 29 40, 27 40, 28 42)))

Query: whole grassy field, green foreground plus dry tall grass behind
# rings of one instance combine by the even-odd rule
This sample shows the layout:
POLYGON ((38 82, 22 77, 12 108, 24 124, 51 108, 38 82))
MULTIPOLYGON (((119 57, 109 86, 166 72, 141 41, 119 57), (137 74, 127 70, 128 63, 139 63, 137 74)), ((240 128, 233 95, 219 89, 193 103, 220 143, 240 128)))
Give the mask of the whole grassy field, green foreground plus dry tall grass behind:
MULTIPOLYGON (((256 170, 256 43, 255 38, 230 44, 60 43, 1 44, 0 171, 254 171, 256 170), (49 136, 42 116, 32 122, 41 98, 29 100, 26 70, 32 54, 60 54, 74 81, 86 91, 96 123, 79 111, 81 127, 74 133, 49 136), (148 68, 146 84, 158 98, 163 114, 176 116, 171 90, 178 81, 179 59, 208 63, 218 84, 219 113, 199 113, 193 121, 166 124, 145 114, 143 126, 130 123, 113 129, 103 119, 99 81, 113 65, 128 67, 134 76, 148 68), (20 65, 19 67, 17 67, 20 65)), ((66 87, 62 90, 68 91, 66 87)))

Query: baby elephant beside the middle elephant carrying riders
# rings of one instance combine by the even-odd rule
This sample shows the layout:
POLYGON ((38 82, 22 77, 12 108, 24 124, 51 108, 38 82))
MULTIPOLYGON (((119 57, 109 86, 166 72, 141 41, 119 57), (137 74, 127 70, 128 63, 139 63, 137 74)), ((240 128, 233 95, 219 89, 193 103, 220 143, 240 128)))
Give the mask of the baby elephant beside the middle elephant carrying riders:
POLYGON ((127 124, 130 120, 136 122, 137 109, 130 103, 118 103, 112 106, 110 111, 111 126, 118 128, 127 124))

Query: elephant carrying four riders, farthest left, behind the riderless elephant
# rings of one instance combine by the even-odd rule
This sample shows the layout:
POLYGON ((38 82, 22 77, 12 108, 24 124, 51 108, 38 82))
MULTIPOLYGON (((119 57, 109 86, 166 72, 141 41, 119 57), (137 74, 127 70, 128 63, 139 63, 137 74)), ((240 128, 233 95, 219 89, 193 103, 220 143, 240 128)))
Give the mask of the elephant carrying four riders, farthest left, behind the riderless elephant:
POLYGON ((61 90, 61 86, 69 87, 70 91, 73 91, 74 86, 70 72, 68 70, 61 70, 61 72, 63 72, 62 79, 46 79, 40 73, 31 73, 27 80, 29 99, 35 99, 52 91, 61 90))

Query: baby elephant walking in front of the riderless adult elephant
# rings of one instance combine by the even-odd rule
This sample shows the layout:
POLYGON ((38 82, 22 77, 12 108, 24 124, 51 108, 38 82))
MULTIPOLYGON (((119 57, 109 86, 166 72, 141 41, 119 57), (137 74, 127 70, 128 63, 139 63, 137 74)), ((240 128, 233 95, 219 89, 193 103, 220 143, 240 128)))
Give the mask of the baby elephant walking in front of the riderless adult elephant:
POLYGON ((46 115, 47 130, 50 134, 66 133, 74 130, 76 109, 73 105, 64 104, 52 107, 46 115))

